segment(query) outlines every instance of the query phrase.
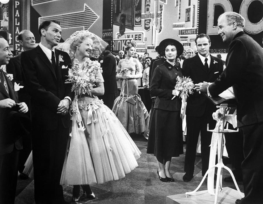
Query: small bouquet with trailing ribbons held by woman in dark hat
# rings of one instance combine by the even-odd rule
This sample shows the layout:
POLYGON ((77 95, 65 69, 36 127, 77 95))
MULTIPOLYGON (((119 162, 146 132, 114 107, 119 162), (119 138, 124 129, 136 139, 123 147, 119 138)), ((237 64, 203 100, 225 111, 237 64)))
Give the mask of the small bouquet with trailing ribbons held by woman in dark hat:
MULTIPOLYGON (((182 107, 181 107, 181 118, 185 116, 185 108, 186 108, 186 99, 188 94, 193 94, 194 84, 193 80, 189 77, 179 77, 177 76, 177 82, 174 89, 178 90, 180 95, 179 97, 182 98, 182 107)), ((175 96, 174 96, 175 97, 175 96)), ((174 97, 172 99, 174 99, 174 97)))

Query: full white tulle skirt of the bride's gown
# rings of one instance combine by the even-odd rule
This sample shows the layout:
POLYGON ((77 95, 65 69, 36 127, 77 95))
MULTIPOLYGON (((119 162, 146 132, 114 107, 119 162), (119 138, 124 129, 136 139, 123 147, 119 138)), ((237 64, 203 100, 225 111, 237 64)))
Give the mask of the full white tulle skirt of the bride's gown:
POLYGON ((60 184, 104 183, 125 177, 138 166, 140 150, 103 101, 74 100, 72 136, 60 184))

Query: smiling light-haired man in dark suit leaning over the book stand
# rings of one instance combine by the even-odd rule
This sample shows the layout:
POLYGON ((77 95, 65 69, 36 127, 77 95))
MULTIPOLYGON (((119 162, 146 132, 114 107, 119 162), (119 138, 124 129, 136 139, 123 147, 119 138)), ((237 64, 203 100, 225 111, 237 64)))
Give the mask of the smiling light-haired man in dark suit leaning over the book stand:
POLYGON ((236 203, 258 204, 263 201, 263 50, 244 33, 245 19, 240 14, 223 13, 217 25, 223 42, 230 43, 226 68, 214 83, 199 83, 195 89, 217 96, 233 87, 237 100, 237 126, 243 134, 245 157, 242 162, 245 197, 236 203))

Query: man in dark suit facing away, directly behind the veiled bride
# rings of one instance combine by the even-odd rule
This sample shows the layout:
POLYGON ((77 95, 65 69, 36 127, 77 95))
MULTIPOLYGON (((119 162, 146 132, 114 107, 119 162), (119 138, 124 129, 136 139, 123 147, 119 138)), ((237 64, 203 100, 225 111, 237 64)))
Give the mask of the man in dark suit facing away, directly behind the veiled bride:
POLYGON ((104 79, 104 95, 99 96, 104 104, 107 105, 110 110, 113 108, 115 96, 118 94, 117 82, 116 82, 116 60, 113 54, 109 50, 109 45, 102 52, 102 76, 104 79))

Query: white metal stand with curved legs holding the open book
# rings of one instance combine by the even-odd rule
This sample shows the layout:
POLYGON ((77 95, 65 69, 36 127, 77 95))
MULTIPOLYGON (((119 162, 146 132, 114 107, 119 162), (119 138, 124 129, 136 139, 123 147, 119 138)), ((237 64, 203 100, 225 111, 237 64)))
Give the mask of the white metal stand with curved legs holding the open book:
POLYGON ((186 192, 185 195, 186 197, 189 197, 190 194, 193 194, 195 193, 196 191, 198 191, 198 189, 201 187, 201 185, 203 184, 208 172, 214 168, 217 167, 217 182, 216 182, 216 192, 215 192, 215 198, 214 198, 214 204, 217 204, 217 198, 218 198, 218 192, 219 192, 219 189, 220 189, 220 192, 222 192, 222 170, 223 168, 225 168, 226 170, 229 171, 233 181, 234 181, 234 184, 236 186, 236 189, 238 191, 238 193, 240 194, 240 196, 243 198, 243 194, 241 193, 237 183, 236 183, 236 179, 233 175, 233 172, 231 171, 230 168, 228 168, 227 166, 224 165, 223 163, 223 160, 222 160, 222 154, 223 154, 223 135, 224 133, 230 133, 230 132, 238 132, 238 129, 237 130, 231 130, 231 129, 228 129, 228 124, 226 125, 226 129, 224 129, 224 124, 225 124, 225 114, 226 114, 226 111, 229 110, 229 107, 228 107, 228 104, 221 104, 220 106, 217 106, 217 108, 222 108, 224 111, 223 111, 223 123, 221 126, 218 127, 218 130, 215 131, 215 130, 209 130, 209 124, 207 124, 207 131, 209 132, 216 132, 216 133, 221 133, 220 134, 220 137, 218 138, 218 142, 217 142, 217 148, 218 148, 218 163, 214 166, 211 166, 205 173, 202 181, 200 182, 200 184, 198 185, 198 187, 194 190, 194 191, 191 191, 191 192, 186 192), (222 129, 220 130, 220 127, 222 127, 222 129))

